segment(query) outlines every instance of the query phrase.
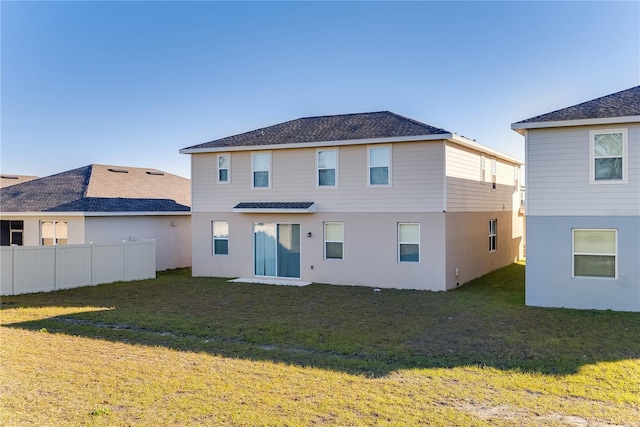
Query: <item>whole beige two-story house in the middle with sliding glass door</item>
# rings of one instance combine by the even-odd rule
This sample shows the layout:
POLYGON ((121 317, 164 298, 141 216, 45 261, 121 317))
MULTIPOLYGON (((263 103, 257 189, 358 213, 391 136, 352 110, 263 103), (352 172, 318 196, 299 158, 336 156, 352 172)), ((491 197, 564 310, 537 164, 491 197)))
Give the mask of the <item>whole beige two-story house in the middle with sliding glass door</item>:
POLYGON ((521 255, 522 162, 394 113, 302 118, 180 152, 194 276, 444 291, 521 255))

